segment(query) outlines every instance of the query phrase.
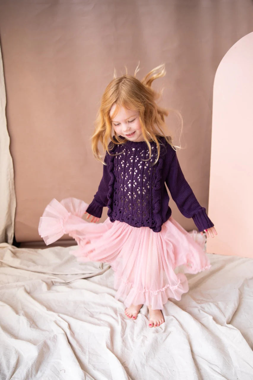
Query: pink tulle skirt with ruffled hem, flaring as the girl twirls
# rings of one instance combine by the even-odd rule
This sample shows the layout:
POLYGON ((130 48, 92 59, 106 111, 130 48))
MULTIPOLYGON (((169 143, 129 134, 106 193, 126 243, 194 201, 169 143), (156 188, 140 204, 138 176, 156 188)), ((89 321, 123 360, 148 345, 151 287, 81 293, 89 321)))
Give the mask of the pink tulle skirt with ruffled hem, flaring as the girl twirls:
POLYGON ((88 204, 76 198, 53 199, 40 218, 39 234, 51 244, 69 234, 78 245, 70 250, 78 261, 109 263, 114 271, 115 299, 126 307, 151 305, 163 309, 168 298, 180 300, 188 291, 184 273, 210 268, 204 242, 196 241, 197 231, 188 233, 170 217, 154 232, 124 222, 91 223, 82 219, 88 204))

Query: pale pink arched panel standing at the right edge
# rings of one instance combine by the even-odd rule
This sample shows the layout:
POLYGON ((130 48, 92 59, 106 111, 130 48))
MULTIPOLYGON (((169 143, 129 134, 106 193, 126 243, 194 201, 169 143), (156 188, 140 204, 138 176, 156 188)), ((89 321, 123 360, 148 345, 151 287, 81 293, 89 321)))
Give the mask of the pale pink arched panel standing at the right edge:
POLYGON ((213 87, 207 252, 253 257, 253 33, 221 60, 213 87))

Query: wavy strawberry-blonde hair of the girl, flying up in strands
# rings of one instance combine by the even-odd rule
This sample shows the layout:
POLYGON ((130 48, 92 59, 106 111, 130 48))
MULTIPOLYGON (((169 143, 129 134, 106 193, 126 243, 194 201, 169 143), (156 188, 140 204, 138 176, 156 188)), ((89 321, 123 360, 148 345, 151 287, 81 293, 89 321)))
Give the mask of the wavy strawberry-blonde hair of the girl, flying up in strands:
MULTIPOLYGON (((119 145, 128 141, 126 138, 120 139, 119 136, 115 134, 115 140, 112 139, 112 122, 111 119, 117 114, 120 107, 126 109, 133 109, 139 111, 139 121, 141 125, 142 135, 144 140, 149 147, 149 155, 151 157, 151 146, 150 142, 155 141, 157 144, 157 159, 155 160, 155 165, 158 161, 160 155, 160 143, 158 141, 159 136, 163 136, 171 147, 176 150, 172 145, 171 136, 164 135, 164 116, 168 116, 169 112, 167 109, 161 108, 157 105, 156 100, 160 97, 160 93, 155 92, 152 88, 152 82, 161 78, 166 74, 165 65, 162 64, 153 68, 143 79, 139 81, 136 78, 136 73, 139 71, 139 64, 134 71, 134 75, 126 74, 116 77, 116 71, 114 69, 114 79, 106 87, 102 99, 100 109, 96 118, 95 132, 93 133, 92 139, 92 151, 95 158, 101 162, 101 156, 98 149, 98 143, 101 142, 104 151, 106 150, 109 154, 109 144, 108 141, 111 140, 113 144, 110 144, 111 148, 114 144, 119 145), (110 117, 109 112, 113 104, 116 104, 114 113, 110 117)), ((182 122, 182 116, 179 113, 180 120, 182 122)), ((179 147, 180 148, 180 147, 179 147)), ((150 158, 149 157, 149 158, 150 158)), ((148 159, 149 160, 149 159, 148 159)), ((104 162, 103 162, 104 163, 104 162)))

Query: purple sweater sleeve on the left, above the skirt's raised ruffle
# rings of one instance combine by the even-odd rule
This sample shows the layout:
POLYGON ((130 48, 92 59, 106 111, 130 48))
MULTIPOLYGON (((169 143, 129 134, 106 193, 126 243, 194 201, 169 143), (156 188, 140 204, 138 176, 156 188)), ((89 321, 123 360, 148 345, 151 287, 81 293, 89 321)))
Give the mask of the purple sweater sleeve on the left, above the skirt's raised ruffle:
POLYGON ((108 203, 108 190, 109 190, 109 154, 106 152, 106 155, 104 157, 104 162, 106 165, 103 165, 103 177, 100 181, 100 184, 98 186, 98 191, 94 195, 94 199, 92 203, 89 204, 87 208, 87 212, 90 215, 93 215, 95 217, 101 218, 103 207, 107 206, 108 203))

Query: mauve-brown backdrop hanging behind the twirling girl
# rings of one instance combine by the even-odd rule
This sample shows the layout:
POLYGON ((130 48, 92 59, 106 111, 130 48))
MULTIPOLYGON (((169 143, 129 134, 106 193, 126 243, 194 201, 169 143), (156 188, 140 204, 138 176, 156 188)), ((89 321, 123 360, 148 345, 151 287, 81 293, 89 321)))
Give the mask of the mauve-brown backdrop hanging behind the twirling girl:
MULTIPOLYGON (((253 30, 250 0, 0 2, 8 131, 14 161, 18 242, 38 241, 38 221, 52 198, 90 203, 102 175, 90 136, 112 79, 141 79, 160 63, 160 104, 183 116, 180 165, 199 203, 209 194, 212 89, 223 55, 253 30)), ((175 118, 168 130, 177 137, 175 118)), ((229 131, 228 131, 229 133, 229 131)), ((173 217, 196 228, 172 199, 173 217)), ((104 208, 101 220, 107 217, 104 208)), ((215 220, 213 220, 215 224, 215 220)))

